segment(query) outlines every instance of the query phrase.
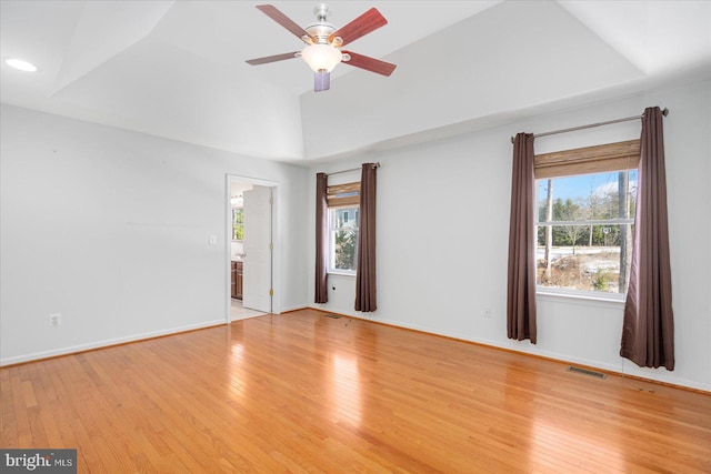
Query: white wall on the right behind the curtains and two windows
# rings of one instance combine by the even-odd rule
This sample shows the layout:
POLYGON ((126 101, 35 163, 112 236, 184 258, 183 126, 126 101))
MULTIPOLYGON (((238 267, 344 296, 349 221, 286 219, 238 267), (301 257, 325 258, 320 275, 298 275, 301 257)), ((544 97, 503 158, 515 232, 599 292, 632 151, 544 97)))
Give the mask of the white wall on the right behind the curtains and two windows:
MULTIPOLYGON (((711 391, 711 84, 664 89, 409 149, 371 153, 336 171, 380 161, 378 305, 353 311, 354 280, 329 276, 328 311, 711 391), (664 121, 675 356, 673 372, 619 356, 622 304, 538 299, 538 344, 507 339, 505 284, 511 188, 510 137, 639 115, 668 107, 664 121), (336 285, 337 290, 331 290, 336 285), (491 309, 484 317, 483 310, 491 309)), ((639 138, 640 122, 537 140, 539 153, 639 138)), ((311 206, 312 208, 312 206, 311 206)), ((313 210, 309 232, 313 242, 313 210)), ((309 261, 313 261, 310 245, 309 261)), ((309 299, 313 301, 313 265, 309 299)))

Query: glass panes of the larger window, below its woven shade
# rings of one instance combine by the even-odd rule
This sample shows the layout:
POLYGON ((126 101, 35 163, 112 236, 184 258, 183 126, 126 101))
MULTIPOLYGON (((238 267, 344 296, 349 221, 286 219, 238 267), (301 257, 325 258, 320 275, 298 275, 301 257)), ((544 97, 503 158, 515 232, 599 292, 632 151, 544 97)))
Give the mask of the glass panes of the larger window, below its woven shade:
POLYGON ((637 170, 537 182, 537 284, 624 293, 637 170))

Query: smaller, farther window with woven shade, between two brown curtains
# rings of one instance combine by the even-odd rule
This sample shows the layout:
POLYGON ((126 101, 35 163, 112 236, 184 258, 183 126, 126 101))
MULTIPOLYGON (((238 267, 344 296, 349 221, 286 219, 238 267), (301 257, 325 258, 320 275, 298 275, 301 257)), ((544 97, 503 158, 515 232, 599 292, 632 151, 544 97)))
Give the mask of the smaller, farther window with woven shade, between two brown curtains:
POLYGON ((328 186, 329 272, 356 274, 360 183, 328 186))

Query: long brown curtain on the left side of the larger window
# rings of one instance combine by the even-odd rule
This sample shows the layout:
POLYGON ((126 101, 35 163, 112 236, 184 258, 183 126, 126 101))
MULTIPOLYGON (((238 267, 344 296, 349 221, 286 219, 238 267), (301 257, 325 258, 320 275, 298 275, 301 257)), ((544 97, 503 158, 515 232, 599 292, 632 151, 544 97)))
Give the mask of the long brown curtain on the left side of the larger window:
POLYGON ((535 179, 533 134, 519 133, 513 142, 507 331, 509 339, 535 344, 535 179))

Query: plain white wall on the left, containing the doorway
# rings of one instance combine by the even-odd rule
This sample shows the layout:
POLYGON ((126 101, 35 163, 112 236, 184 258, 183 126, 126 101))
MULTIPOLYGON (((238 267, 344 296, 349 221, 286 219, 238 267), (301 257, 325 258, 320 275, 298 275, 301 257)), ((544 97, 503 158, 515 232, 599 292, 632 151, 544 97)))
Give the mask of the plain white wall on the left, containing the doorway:
POLYGON ((224 323, 228 174, 278 184, 274 309, 307 304, 306 169, 4 104, 0 123, 1 363, 224 323))

